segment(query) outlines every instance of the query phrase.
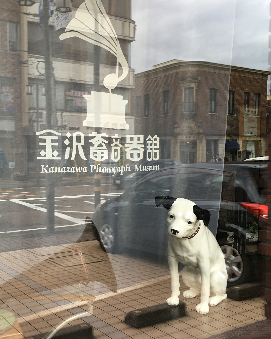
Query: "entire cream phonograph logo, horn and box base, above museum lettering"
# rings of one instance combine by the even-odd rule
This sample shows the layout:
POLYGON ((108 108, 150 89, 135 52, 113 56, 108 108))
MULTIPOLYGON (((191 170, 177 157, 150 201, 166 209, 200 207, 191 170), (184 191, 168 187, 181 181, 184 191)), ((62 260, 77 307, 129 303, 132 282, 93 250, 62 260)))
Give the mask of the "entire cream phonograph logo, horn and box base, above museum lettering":
POLYGON ((105 12, 101 0, 85 0, 77 9, 60 39, 78 37, 105 48, 117 57, 116 73, 105 76, 103 84, 109 93, 91 92, 84 95, 87 101, 87 117, 84 126, 128 129, 125 121, 125 106, 128 100, 122 95, 111 93, 117 84, 129 72, 128 63, 123 55, 117 34, 105 12))

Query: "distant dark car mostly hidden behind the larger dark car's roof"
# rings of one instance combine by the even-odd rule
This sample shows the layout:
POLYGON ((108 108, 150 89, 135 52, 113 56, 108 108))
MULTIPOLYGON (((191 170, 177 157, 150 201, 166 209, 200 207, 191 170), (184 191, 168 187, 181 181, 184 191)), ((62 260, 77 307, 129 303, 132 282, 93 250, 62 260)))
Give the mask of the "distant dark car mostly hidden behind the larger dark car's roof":
POLYGON ((129 166, 131 167, 130 172, 124 172, 123 174, 116 173, 113 178, 113 185, 118 188, 127 188, 135 184, 139 179, 144 177, 146 174, 149 174, 148 171, 134 171, 135 168, 145 167, 145 166, 159 166, 159 168, 169 167, 173 165, 180 165, 179 160, 173 159, 159 159, 159 160, 142 160, 139 162, 133 162, 129 166), (136 167, 137 166, 137 167, 136 167))

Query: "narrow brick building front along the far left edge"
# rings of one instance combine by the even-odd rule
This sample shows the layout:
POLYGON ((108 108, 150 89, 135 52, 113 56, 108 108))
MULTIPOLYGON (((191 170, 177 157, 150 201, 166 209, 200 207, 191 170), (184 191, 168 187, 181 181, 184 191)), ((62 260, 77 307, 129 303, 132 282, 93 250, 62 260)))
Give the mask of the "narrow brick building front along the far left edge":
POLYGON ((8 163, 16 161, 18 170, 24 169, 22 137, 20 9, 16 0, 0 1, 0 159, 4 176, 8 163))

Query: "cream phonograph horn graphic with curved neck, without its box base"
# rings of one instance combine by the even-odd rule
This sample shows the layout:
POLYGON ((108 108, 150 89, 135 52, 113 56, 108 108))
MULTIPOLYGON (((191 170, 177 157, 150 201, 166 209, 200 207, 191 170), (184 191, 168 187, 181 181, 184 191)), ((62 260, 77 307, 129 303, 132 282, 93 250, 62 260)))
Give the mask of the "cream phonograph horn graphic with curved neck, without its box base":
POLYGON ((98 45, 117 57, 116 73, 108 74, 104 78, 104 86, 111 93, 111 89, 114 89, 118 82, 127 76, 129 66, 101 0, 85 0, 78 7, 75 17, 68 23, 65 33, 61 34, 59 38, 63 40, 71 37, 78 37, 98 45), (120 76, 119 65, 122 67, 120 76))

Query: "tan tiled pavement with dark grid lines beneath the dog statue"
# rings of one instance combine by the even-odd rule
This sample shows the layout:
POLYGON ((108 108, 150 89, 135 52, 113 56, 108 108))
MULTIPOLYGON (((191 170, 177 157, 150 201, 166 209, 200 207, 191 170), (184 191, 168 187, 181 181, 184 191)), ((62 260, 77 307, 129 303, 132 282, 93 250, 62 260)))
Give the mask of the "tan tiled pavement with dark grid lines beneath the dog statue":
POLYGON ((184 300, 186 286, 180 278, 187 316, 135 329, 124 322, 126 314, 165 302, 170 295, 168 268, 124 255, 110 259, 97 241, 0 253, 1 308, 16 316, 15 326, 2 337, 20 339, 51 331, 63 320, 92 312, 90 299, 95 297, 93 314, 66 326, 86 321, 99 339, 200 339, 265 319, 262 298, 226 299, 210 306, 207 315, 198 314, 200 300, 184 300), (112 291, 118 285, 118 293, 105 284, 112 291))

